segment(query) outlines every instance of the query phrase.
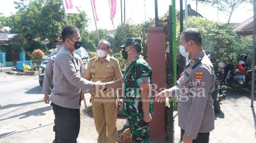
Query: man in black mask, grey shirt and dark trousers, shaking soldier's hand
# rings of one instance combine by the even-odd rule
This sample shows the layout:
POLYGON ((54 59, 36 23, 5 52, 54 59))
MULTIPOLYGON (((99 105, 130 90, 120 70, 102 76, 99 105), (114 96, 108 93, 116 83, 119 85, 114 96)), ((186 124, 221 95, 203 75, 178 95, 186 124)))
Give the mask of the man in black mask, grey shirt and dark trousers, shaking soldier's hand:
POLYGON ((78 28, 66 26, 61 35, 64 46, 55 58, 50 96, 59 136, 55 142, 75 143, 80 129, 81 94, 100 86, 81 77, 79 57, 74 54, 75 49, 81 46, 78 28))

